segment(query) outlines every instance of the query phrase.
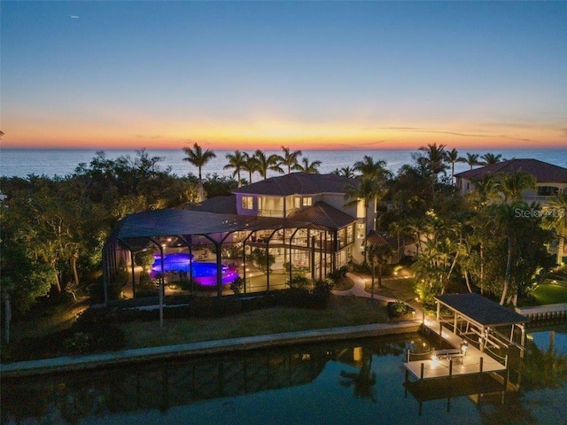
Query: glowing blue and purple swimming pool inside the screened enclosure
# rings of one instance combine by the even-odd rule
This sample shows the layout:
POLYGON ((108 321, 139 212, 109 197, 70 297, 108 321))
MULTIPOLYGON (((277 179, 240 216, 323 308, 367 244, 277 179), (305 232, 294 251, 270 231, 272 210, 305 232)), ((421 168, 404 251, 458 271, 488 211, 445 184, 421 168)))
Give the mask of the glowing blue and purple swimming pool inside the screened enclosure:
MULTIPOLYGON (((181 273, 183 277, 190 276, 192 272, 195 282, 205 286, 216 285, 216 263, 194 261, 193 256, 185 252, 165 254, 163 257, 163 271, 165 273, 181 273)), ((156 274, 160 272, 161 257, 159 254, 156 254, 154 256, 153 265, 151 266, 151 273, 156 274)), ((222 284, 232 283, 238 278, 237 271, 224 264, 221 265, 221 274, 222 284)))

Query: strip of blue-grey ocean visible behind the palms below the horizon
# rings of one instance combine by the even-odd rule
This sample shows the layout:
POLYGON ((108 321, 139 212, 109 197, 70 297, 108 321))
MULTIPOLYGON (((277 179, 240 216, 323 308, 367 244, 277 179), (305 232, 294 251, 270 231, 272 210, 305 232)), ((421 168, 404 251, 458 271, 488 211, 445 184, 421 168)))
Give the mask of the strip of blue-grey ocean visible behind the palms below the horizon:
MULTIPOLYGON (((502 158, 534 158, 556 166, 567 167, 567 149, 462 150, 459 153, 462 157, 466 156, 467 152, 478 153, 482 156, 489 151, 494 154, 501 154, 502 158)), ((147 152, 151 157, 158 156, 163 158, 160 166, 162 168, 171 166, 172 173, 178 176, 189 173, 197 174, 196 167, 183 161, 185 154, 182 150, 147 150, 147 152)), ((230 175, 233 170, 225 170, 223 167, 227 164, 226 155, 233 152, 214 150, 216 158, 203 168, 203 174, 230 175)), ((364 155, 369 155, 375 160, 386 161, 387 167, 395 174, 400 169, 400 166, 412 162, 412 153, 414 152, 416 151, 303 151, 303 158, 307 157, 309 161, 322 161, 319 172, 332 173, 337 168, 353 166, 364 155)), ((272 153, 280 154, 282 151, 266 151, 266 153, 268 155, 272 153)), ((55 175, 66 176, 67 174, 73 174, 74 169, 79 164, 89 164, 95 154, 96 150, 81 149, 2 149, 0 150, 0 176, 21 178, 25 178, 29 174, 47 175, 49 177, 55 175)), ((136 151, 134 150, 106 150, 105 154, 107 158, 118 158, 126 155, 129 155, 131 158, 136 157, 136 151)), ((468 169, 469 166, 467 164, 455 164, 454 167, 455 173, 468 169)), ((273 176, 276 173, 268 175, 273 176)), ((247 175, 244 175, 243 178, 247 178, 247 175)), ((260 180, 259 174, 254 174, 252 181, 256 182, 258 180, 260 180)))

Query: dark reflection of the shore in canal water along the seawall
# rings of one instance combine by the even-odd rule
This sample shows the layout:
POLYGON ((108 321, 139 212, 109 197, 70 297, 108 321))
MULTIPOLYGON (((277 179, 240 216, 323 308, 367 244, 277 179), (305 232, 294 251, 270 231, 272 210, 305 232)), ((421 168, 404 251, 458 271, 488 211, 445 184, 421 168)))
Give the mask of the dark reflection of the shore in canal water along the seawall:
POLYGON ((211 359, 183 359, 105 369, 84 374, 9 379, 3 382, 2 423, 45 418, 57 423, 79 423, 82 418, 102 418, 107 413, 157 409, 200 400, 234 398, 265 390, 311 383, 328 361, 338 361, 360 372, 342 371, 341 379, 355 393, 369 394, 368 378, 373 354, 404 352, 405 337, 357 343, 292 346, 277 351, 228 354, 211 359), (364 344, 360 346, 357 344, 364 344), (44 379, 45 378, 45 379, 44 379), (365 383, 364 380, 367 380, 365 383))

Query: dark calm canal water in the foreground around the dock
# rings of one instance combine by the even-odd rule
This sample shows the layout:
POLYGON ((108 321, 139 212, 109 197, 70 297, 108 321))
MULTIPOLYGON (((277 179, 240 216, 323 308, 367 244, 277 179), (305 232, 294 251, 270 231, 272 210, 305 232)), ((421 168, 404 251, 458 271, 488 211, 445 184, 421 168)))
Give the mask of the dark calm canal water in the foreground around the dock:
POLYGON ((472 378, 416 392, 405 352, 432 348, 412 334, 4 379, 1 422, 566 423, 567 328, 532 332, 517 391, 472 378))

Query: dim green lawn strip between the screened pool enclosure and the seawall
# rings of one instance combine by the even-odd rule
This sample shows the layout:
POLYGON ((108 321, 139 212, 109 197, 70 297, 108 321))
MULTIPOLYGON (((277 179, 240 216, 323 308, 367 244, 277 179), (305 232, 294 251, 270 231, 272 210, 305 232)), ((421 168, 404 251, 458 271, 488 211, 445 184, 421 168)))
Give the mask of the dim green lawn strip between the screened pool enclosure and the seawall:
POLYGON ((163 328, 157 321, 140 321, 120 325, 120 329, 127 348, 141 348, 385 321, 385 303, 331 296, 326 310, 274 307, 219 319, 167 320, 163 328))

